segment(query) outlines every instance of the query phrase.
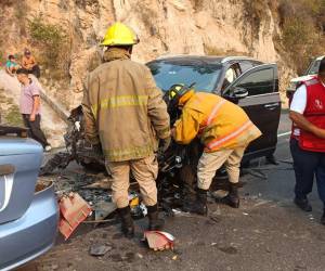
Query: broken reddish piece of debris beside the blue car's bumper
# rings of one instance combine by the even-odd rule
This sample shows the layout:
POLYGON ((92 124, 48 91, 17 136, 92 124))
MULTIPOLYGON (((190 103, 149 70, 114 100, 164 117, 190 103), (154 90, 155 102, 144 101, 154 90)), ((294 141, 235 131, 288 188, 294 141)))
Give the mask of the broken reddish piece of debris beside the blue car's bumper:
POLYGON ((64 195, 58 201, 60 224, 58 230, 67 240, 77 227, 92 212, 90 205, 77 193, 64 195))

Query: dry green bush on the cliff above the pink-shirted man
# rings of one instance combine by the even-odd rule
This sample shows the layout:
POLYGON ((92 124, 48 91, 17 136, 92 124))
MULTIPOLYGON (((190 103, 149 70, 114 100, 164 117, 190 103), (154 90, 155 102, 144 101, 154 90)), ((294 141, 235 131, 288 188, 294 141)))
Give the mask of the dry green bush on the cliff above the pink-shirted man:
POLYGON ((68 48, 65 30, 37 17, 29 22, 29 31, 32 40, 41 47, 43 64, 50 68, 61 68, 62 63, 66 62, 63 54, 68 48))

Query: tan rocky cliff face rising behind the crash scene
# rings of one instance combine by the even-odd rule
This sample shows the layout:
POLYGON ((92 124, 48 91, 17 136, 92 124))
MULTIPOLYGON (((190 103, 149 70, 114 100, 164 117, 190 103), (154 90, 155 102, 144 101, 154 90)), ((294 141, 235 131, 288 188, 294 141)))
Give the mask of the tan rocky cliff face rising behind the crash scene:
MULTIPOLYGON (((43 64, 43 83, 49 93, 67 107, 80 102, 82 80, 100 61, 98 44, 115 21, 130 25, 139 34, 141 43, 134 49, 138 61, 166 53, 250 55, 277 62, 284 88, 297 72, 297 64, 283 42, 287 18, 295 18, 292 14, 299 8, 290 2, 1 0, 0 49, 4 56, 20 54, 30 47, 43 64)), ((324 4, 321 0, 295 2, 324 4)))

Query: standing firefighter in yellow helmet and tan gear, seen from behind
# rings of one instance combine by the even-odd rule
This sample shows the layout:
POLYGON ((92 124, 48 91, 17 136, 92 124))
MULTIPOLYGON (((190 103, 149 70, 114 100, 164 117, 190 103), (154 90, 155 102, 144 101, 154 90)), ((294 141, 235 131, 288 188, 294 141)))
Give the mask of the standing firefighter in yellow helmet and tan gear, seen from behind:
POLYGON ((158 139, 162 151, 170 144, 162 93, 150 69, 131 61, 132 47, 138 42, 134 31, 121 23, 107 29, 101 43, 106 47, 104 63, 89 75, 82 102, 86 137, 95 150, 104 153, 113 178, 113 199, 127 237, 134 234, 128 198, 130 171, 147 207, 148 229, 164 225, 158 218, 158 165, 154 153, 158 139))

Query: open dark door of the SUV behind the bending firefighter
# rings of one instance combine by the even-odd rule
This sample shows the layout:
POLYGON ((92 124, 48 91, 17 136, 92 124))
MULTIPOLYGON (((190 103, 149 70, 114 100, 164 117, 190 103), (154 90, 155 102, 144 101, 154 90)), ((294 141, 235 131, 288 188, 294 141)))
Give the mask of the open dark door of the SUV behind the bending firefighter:
POLYGON ((244 108, 251 121, 261 130, 262 137, 251 142, 246 158, 256 153, 259 156, 273 154, 277 143, 277 128, 281 116, 281 99, 276 64, 264 64, 248 69, 223 91, 225 99, 238 95, 235 102, 244 108))

